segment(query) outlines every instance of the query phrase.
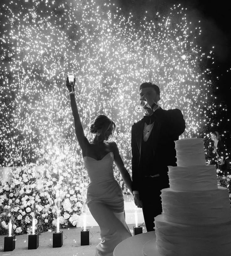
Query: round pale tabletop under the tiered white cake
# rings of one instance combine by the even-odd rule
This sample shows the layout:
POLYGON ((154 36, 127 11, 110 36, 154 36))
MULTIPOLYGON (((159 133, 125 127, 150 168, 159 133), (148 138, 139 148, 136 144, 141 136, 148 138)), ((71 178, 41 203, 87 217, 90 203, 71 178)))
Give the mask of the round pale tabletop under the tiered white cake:
POLYGON ((119 243, 113 256, 163 256, 156 248, 155 231, 143 233, 119 243))

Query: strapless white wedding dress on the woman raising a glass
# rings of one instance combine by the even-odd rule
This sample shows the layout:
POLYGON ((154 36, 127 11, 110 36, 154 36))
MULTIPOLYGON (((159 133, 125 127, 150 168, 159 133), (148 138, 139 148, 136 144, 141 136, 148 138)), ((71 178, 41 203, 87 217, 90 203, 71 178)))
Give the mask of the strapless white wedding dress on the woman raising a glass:
POLYGON ((95 255, 112 256, 115 247, 132 236, 125 222, 122 190, 113 174, 114 155, 110 152, 99 161, 85 156, 83 162, 90 178, 87 204, 102 239, 95 255))

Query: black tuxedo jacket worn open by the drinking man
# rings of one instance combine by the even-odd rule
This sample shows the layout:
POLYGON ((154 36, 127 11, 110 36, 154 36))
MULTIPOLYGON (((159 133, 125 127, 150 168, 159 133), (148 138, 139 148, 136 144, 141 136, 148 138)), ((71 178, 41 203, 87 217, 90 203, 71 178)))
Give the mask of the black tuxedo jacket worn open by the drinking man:
MULTIPOLYGON (((154 113, 153 158, 158 168, 163 188, 169 187, 168 167, 176 166, 175 140, 185 131, 185 120, 179 109, 163 110, 158 108, 154 113)), ((142 186, 142 169, 140 168, 144 119, 132 125, 132 190, 142 186)))

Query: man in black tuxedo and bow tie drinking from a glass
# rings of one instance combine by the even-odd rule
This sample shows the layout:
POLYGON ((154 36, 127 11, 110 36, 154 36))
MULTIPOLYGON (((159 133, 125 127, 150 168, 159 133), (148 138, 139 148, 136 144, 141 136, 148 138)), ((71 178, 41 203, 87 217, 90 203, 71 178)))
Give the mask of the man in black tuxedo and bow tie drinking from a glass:
POLYGON ((132 125, 132 190, 149 232, 153 231, 154 217, 162 213, 160 190, 169 187, 167 166, 176 166, 174 141, 185 131, 185 120, 179 109, 158 106, 157 85, 143 83, 139 94, 147 105, 144 117, 132 125))

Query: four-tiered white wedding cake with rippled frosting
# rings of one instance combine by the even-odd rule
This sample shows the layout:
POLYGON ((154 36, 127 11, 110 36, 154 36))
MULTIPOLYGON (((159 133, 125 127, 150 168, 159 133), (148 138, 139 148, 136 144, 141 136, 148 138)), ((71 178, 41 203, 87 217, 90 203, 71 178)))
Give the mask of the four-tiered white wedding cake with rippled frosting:
POLYGON ((177 166, 162 189, 163 213, 155 218, 156 244, 165 256, 230 256, 228 189, 218 187, 216 168, 206 165, 203 139, 175 141, 177 166))

